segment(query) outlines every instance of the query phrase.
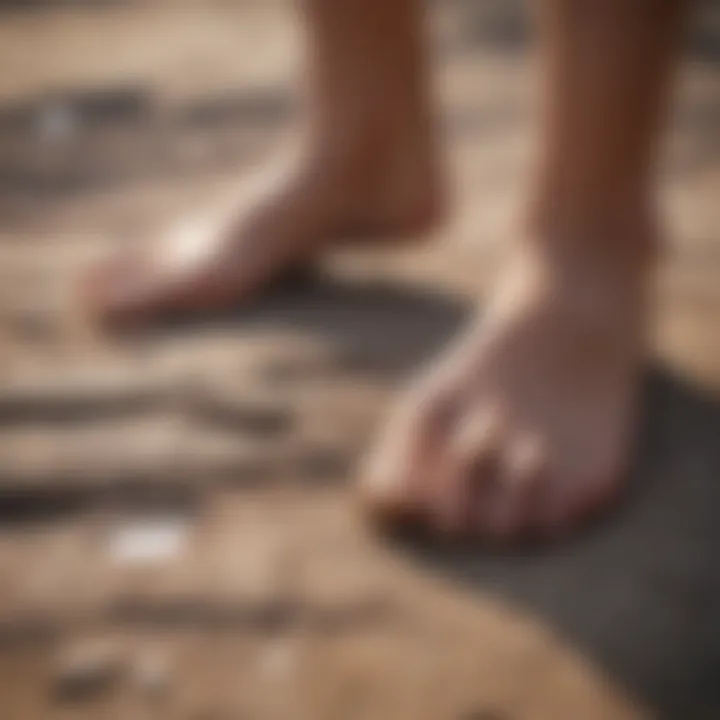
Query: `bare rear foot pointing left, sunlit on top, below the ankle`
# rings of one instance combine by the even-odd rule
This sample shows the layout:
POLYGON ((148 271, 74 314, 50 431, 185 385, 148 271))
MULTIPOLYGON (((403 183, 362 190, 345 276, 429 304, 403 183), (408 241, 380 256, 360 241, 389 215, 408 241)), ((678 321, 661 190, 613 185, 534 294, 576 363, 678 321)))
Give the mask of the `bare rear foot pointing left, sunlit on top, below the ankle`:
POLYGON ((82 284, 91 313, 106 323, 135 325, 168 313, 221 309, 254 296, 332 243, 415 235, 441 212, 438 173, 425 141, 346 142, 290 167, 184 219, 150 247, 94 268, 82 284))

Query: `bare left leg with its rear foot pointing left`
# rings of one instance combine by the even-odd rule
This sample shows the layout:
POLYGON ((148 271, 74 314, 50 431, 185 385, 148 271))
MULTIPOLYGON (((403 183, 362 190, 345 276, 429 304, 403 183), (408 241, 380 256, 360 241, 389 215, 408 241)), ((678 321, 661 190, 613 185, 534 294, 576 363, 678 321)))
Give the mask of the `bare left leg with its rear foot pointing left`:
MULTIPOLYGON (((309 82, 300 157, 274 179, 111 259, 91 309, 135 323, 236 303, 348 233, 407 235, 441 212, 417 0, 303 0, 309 82)), ((265 178, 263 178, 265 180, 265 178)))

